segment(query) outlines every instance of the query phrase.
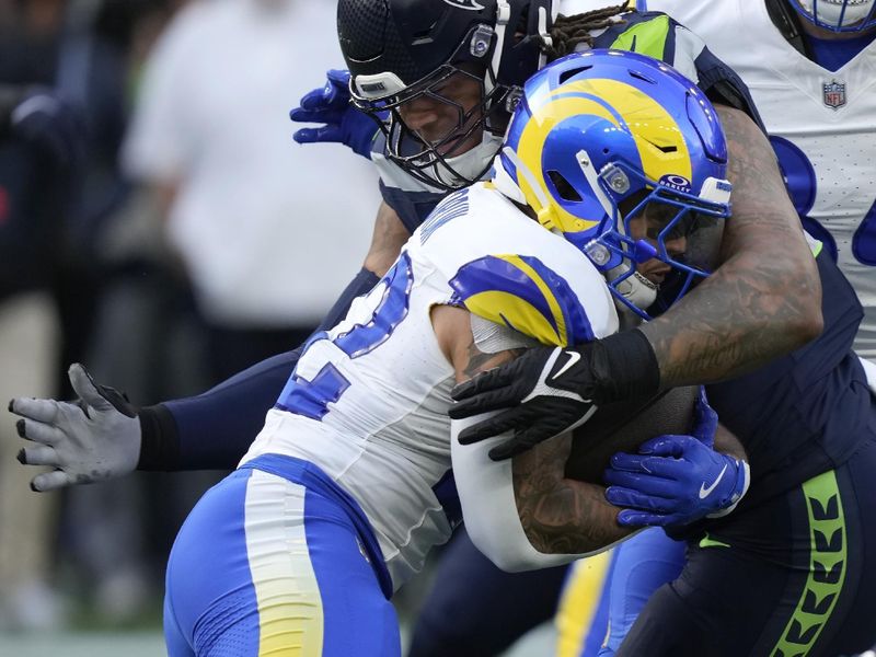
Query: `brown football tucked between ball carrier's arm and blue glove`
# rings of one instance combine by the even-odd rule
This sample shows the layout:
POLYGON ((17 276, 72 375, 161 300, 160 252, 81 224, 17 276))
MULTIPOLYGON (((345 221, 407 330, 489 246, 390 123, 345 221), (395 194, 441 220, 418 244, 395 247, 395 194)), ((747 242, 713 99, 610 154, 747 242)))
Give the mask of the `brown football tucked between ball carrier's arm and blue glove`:
POLYGON ((635 452, 661 434, 687 434, 691 428, 698 388, 672 388, 648 400, 600 406, 574 431, 566 476, 602 484, 602 471, 614 452, 635 452))

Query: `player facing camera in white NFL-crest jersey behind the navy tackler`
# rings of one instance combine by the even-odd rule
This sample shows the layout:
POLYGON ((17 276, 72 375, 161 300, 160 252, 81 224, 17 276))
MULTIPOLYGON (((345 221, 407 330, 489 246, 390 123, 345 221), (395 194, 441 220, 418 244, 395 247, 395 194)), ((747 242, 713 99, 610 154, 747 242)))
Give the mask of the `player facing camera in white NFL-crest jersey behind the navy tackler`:
MULTIPOLYGON (((864 307, 855 350, 876 357, 876 289, 869 272, 876 265, 876 196, 861 184, 876 175, 871 120, 876 84, 867 72, 876 58, 876 3, 758 0, 706 5, 648 0, 637 5, 666 11, 691 26, 749 85, 804 226, 830 251, 864 307)), ((613 611, 603 654, 618 647, 650 592, 675 579, 682 565, 683 544, 659 531, 645 532, 618 551, 611 602, 608 596, 602 600, 613 611), (653 560, 648 567, 641 566, 643 556, 653 560), (629 577, 633 570, 649 576, 629 577)), ((590 590, 591 579, 580 568, 566 599, 580 597, 574 590, 576 581, 590 590)), ((587 615, 576 607, 567 604, 561 611, 566 643, 581 634, 587 615)), ((604 636, 604 626, 593 627, 592 634, 604 636)))

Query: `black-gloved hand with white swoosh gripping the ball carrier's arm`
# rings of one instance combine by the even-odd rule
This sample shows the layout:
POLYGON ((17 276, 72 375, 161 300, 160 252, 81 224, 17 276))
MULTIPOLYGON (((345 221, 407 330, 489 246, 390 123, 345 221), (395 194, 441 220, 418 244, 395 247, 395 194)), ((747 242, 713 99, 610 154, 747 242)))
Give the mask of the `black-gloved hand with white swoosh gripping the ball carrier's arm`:
POLYGON ((596 411, 580 393, 586 389, 581 360, 587 358, 583 355, 587 346, 528 349, 516 360, 457 385, 451 393, 457 403, 450 407, 454 419, 505 408, 463 429, 460 443, 514 429, 511 438, 489 450, 491 459, 502 461, 586 422, 596 411))

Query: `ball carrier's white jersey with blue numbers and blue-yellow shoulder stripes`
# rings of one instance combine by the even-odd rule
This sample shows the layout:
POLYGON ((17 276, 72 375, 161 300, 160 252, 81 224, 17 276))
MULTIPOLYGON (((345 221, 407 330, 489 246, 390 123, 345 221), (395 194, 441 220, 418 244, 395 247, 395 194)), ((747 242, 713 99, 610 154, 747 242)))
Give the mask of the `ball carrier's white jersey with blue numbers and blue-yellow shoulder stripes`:
POLYGON ((445 199, 377 287, 310 343, 242 463, 276 453, 319 465, 359 503, 395 589, 461 520, 447 416, 454 370, 431 327, 436 304, 543 344, 618 328, 586 256, 480 183, 445 199))

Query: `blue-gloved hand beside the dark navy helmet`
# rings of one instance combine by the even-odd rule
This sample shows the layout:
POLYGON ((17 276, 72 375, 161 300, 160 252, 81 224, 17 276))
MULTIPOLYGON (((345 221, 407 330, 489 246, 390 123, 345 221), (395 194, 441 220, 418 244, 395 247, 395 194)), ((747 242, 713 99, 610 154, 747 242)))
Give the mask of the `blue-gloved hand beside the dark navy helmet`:
POLYGON ((349 71, 333 69, 326 73, 326 78, 325 87, 304 94, 301 106, 289 112, 289 118, 295 122, 325 125, 301 128, 292 138, 298 143, 343 143, 370 160, 371 142, 379 128, 371 117, 350 104, 349 71))

